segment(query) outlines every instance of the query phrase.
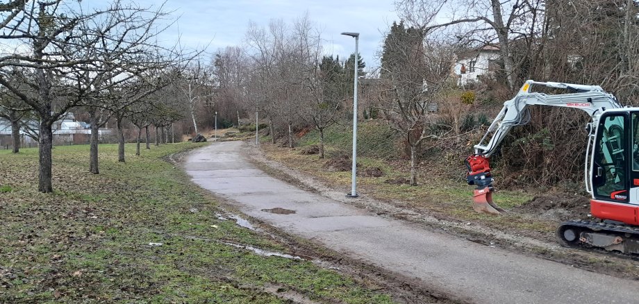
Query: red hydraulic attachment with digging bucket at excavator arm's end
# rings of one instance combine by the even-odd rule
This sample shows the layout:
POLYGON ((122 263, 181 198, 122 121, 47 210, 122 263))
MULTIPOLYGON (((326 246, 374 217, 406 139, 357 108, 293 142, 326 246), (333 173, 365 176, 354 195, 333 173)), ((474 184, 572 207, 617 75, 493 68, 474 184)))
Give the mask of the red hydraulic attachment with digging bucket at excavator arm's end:
POLYGON ((472 191, 472 208, 479 213, 501 214, 504 209, 492 202, 493 178, 490 175, 490 163, 484 155, 470 155, 466 158, 468 185, 476 185, 472 191))

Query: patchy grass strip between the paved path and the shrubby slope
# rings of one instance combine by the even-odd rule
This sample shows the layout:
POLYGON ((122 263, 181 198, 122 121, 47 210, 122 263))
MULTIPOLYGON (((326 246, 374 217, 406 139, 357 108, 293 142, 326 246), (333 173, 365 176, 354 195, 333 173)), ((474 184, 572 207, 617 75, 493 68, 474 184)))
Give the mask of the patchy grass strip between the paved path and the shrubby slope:
MULTIPOLYGON (((440 158, 434 163, 433 160, 425 160, 418 177, 419 186, 387 183, 387 180, 395 180, 399 177, 408 178, 409 176, 408 162, 390 157, 392 155, 390 151, 399 151, 397 146, 401 145, 397 144, 397 139, 394 140, 395 137, 381 130, 383 126, 380 122, 367 121, 361 126, 363 130, 376 130, 373 134, 381 134, 385 138, 374 137, 370 139, 366 137, 370 136, 369 133, 366 133, 366 136, 358 135, 358 142, 360 140, 364 142, 364 146, 367 146, 368 149, 367 153, 358 156, 358 171, 361 172, 368 167, 379 167, 384 174, 379 178, 358 176, 360 192, 401 208, 410 208, 442 219, 472 221, 499 230, 522 233, 547 240, 554 238, 556 221, 551 219, 531 219, 531 217, 526 217, 526 214, 518 214, 517 212, 509 212, 502 217, 475 213, 471 203, 472 187, 466 185, 459 176, 454 175, 456 171, 463 171, 462 163, 459 164, 458 170, 455 170, 447 165, 451 163, 449 160, 440 158)), ((388 130, 388 126, 386 129, 388 130)), ((327 158, 337 151, 350 151, 347 140, 350 140, 351 137, 347 131, 331 128, 330 134, 326 140, 327 158)), ((309 133, 301 138, 299 143, 300 146, 316 144, 317 138, 314 133, 309 133)), ((326 160, 320 160, 317 155, 301 155, 299 150, 290 151, 269 144, 264 144, 262 148, 268 158, 297 169, 304 174, 320 178, 330 187, 344 188, 347 192, 351 185, 350 171, 326 171, 323 167, 326 160)), ((500 190, 493 195, 493 198, 497 205, 511 210, 529 202, 533 196, 522 191, 500 190)))

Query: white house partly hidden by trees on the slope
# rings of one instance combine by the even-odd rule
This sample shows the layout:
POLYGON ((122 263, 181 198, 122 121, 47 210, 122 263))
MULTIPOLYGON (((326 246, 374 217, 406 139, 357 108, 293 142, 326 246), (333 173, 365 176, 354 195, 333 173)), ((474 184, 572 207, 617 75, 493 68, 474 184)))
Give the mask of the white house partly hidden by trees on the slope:
POLYGON ((489 44, 458 54, 457 57, 455 74, 458 75, 458 84, 461 86, 478 81, 481 76, 490 76, 500 69, 499 48, 489 44))

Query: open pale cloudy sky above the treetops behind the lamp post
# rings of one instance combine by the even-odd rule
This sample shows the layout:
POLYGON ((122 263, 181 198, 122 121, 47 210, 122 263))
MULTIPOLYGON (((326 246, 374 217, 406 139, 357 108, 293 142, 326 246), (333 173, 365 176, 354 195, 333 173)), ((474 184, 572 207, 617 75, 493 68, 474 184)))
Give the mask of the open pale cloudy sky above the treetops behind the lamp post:
MULTIPOLYGON (((163 3, 136 2, 156 7, 163 3)), ((180 35, 183 45, 193 48, 208 45, 211 53, 241 44, 249 21, 267 26, 270 19, 283 19, 290 24, 308 12, 326 40, 326 53, 340 55, 340 58, 348 56, 355 51, 354 38, 340 33, 360 33, 359 50, 367 67, 379 65, 376 53, 383 42, 383 33, 397 19, 392 0, 167 0, 165 10, 174 10, 179 19, 162 36, 163 40, 170 42, 180 35)))

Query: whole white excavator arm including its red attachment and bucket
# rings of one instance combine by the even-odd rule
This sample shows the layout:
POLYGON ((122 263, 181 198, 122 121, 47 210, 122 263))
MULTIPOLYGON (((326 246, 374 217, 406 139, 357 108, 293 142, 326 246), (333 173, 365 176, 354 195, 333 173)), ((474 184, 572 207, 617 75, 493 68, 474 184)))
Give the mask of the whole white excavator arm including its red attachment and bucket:
MULTIPOLYGON (((466 158, 467 176, 469 185, 476 185, 473 191, 473 208, 477 212, 488 214, 501 214, 504 212, 492 202, 492 186, 494 179, 490 174, 490 162, 488 158, 495 153, 497 147, 504 140, 508 131, 514 126, 528 124, 530 112, 528 105, 551 105, 563 108, 576 108, 583 110, 592 117, 588 123, 590 135, 588 137, 588 148, 592 142, 592 124, 598 121, 599 115, 606 109, 622 108, 613 94, 605 92, 598 85, 575 85, 572 83, 553 83, 526 81, 515 98, 504 102, 504 108, 492 121, 486 134, 483 135, 479 144, 474 146, 474 154, 466 158), (570 90, 567 94, 545 94, 532 92, 533 86, 542 85, 545 87, 570 90)), ((588 161, 586 161, 586 176, 588 176, 588 161)), ((587 189, 588 178, 586 178, 587 189)))

